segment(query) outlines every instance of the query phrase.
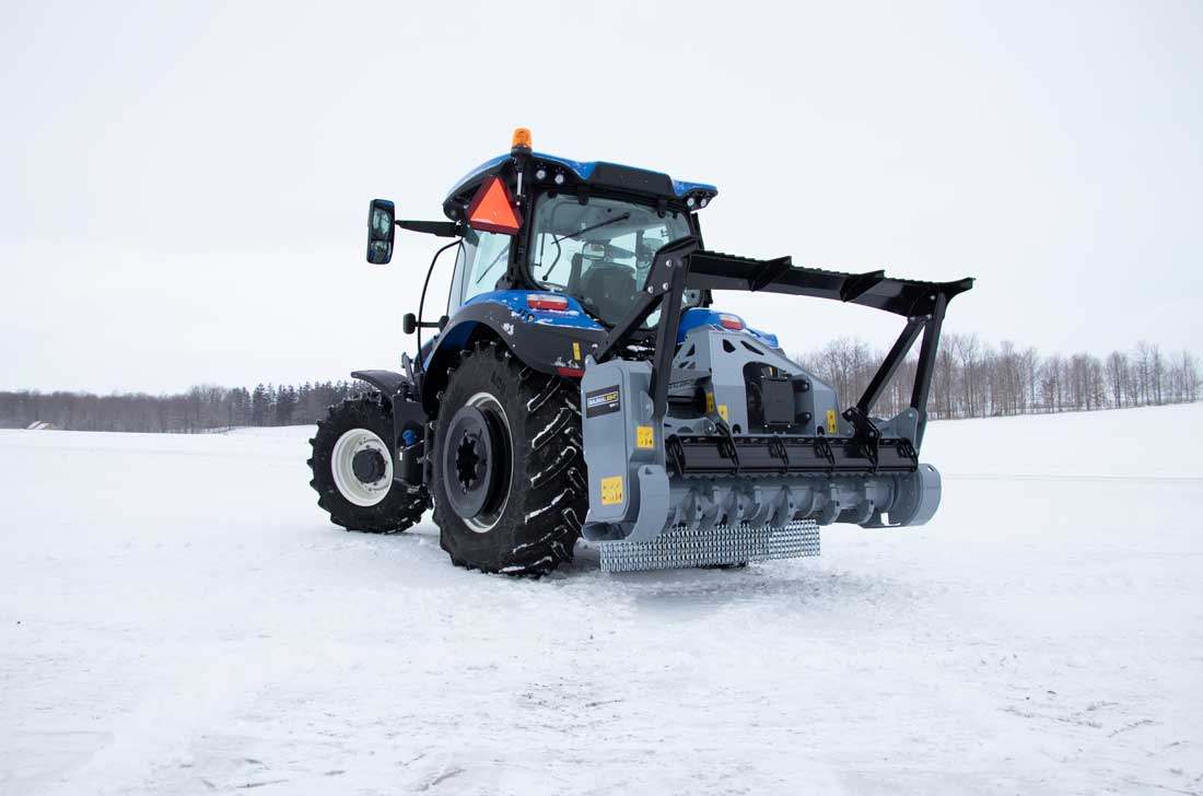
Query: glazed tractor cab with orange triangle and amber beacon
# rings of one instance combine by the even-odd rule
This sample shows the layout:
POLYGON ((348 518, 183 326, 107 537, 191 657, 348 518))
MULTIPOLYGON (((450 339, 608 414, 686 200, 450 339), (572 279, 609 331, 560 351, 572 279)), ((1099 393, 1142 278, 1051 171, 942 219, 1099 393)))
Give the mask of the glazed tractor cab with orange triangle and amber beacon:
MULTIPOLYGON (((534 153, 520 135, 511 154, 478 166, 444 201, 463 233, 449 313, 484 293, 540 291, 612 327, 645 290, 656 253, 700 234, 697 210, 717 194, 660 172, 534 153)), ((705 297, 685 298, 693 307, 705 297)))

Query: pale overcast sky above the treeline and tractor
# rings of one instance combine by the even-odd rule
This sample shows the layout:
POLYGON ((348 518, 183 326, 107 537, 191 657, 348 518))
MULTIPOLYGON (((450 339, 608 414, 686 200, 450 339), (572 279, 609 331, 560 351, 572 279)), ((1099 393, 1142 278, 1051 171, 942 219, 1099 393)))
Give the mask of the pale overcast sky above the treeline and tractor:
MULTIPOLYGON (((396 364, 442 242, 399 232, 392 265, 367 265, 368 200, 442 218, 518 125, 543 152, 718 185, 712 249, 977 277, 955 331, 1203 352, 1199 2, 30 1, 4 17, 0 388, 396 364)), ((717 303, 789 350, 897 328, 818 301, 717 303)))

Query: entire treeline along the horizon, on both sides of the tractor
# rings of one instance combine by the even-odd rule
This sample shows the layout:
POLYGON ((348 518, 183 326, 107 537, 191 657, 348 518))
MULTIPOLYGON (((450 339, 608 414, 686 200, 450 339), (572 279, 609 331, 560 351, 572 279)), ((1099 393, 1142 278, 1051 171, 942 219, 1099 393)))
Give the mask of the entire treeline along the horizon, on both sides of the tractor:
MULTIPOLYGON (((840 338, 794 358, 834 385, 845 404, 852 404, 883 357, 883 351, 863 340, 840 338)), ((888 417, 909 405, 917 362, 913 354, 902 364, 875 414, 888 417)), ((1033 347, 1020 350, 1007 341, 996 347, 976 334, 946 333, 928 409, 940 420, 1184 403, 1198 399, 1199 382, 1198 363, 1190 352, 1166 355, 1149 343, 1102 358, 1043 356, 1033 347)), ((261 384, 253 390, 198 386, 167 396, 0 392, 0 428, 41 421, 78 430, 196 434, 295 426, 313 423, 330 404, 369 388, 358 381, 324 381, 261 384)))

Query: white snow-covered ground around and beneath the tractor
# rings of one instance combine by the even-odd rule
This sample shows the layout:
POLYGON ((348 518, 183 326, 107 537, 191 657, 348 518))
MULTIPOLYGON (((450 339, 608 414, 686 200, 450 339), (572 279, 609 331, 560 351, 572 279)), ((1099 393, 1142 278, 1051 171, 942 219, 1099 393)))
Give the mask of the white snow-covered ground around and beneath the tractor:
POLYGON ((1199 794, 1203 405, 935 423, 925 528, 541 581, 308 429, 0 432, 4 794, 1199 794))

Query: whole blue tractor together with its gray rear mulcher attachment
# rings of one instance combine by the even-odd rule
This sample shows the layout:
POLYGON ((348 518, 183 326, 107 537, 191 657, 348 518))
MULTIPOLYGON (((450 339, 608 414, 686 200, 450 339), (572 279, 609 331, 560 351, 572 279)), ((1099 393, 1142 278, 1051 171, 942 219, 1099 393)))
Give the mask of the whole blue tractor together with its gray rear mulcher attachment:
MULTIPOLYGON (((919 461, 944 310, 972 279, 836 273, 705 248, 712 185, 610 162, 508 154, 460 179, 445 221, 374 200, 367 259, 396 230, 449 238, 448 313, 404 316, 417 356, 352 373, 312 486, 344 528, 392 533, 434 511, 461 566, 540 575, 580 537, 610 571, 728 566, 818 553, 819 528, 923 524, 941 480, 919 461), (828 298, 903 319, 865 393, 842 404, 777 338, 713 291, 828 298), (428 332, 422 340, 423 331, 428 332), (873 406, 919 343, 909 406, 873 406)), ((427 273, 427 284, 429 272, 427 273)))

